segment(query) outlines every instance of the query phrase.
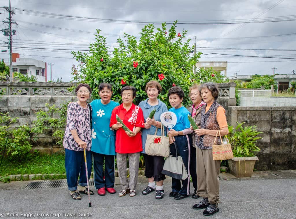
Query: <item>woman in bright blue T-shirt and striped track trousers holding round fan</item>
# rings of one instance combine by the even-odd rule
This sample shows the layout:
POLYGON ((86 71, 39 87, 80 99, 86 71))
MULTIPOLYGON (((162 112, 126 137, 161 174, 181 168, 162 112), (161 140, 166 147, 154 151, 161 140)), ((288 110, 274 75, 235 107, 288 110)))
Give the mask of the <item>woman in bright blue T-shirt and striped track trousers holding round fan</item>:
MULTIPOLYGON (((184 162, 184 166, 190 176, 190 156, 191 156, 191 136, 188 134, 192 133, 190 129, 190 122, 188 120, 188 114, 190 112, 182 105, 184 99, 184 91, 181 87, 172 87, 168 91, 168 98, 170 105, 169 111, 173 112, 177 116, 177 123, 168 132, 170 139, 170 153, 176 156, 176 149, 174 146, 174 141, 177 145, 178 156, 181 156, 184 162)), ((190 194, 190 177, 181 181, 172 178, 172 191, 170 192, 170 197, 175 197, 176 200, 184 199, 190 194)))

